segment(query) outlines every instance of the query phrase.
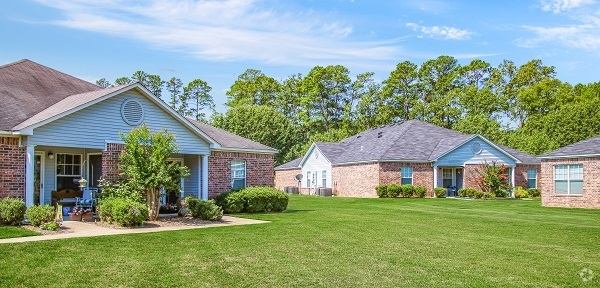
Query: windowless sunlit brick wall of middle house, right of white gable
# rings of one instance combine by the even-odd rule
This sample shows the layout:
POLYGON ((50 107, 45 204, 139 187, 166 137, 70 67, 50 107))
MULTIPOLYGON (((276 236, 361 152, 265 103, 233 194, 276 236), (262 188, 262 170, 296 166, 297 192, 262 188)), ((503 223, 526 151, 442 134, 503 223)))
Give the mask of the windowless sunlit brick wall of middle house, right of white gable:
POLYGON ((333 194, 347 197, 377 197, 379 163, 333 166, 333 194))

